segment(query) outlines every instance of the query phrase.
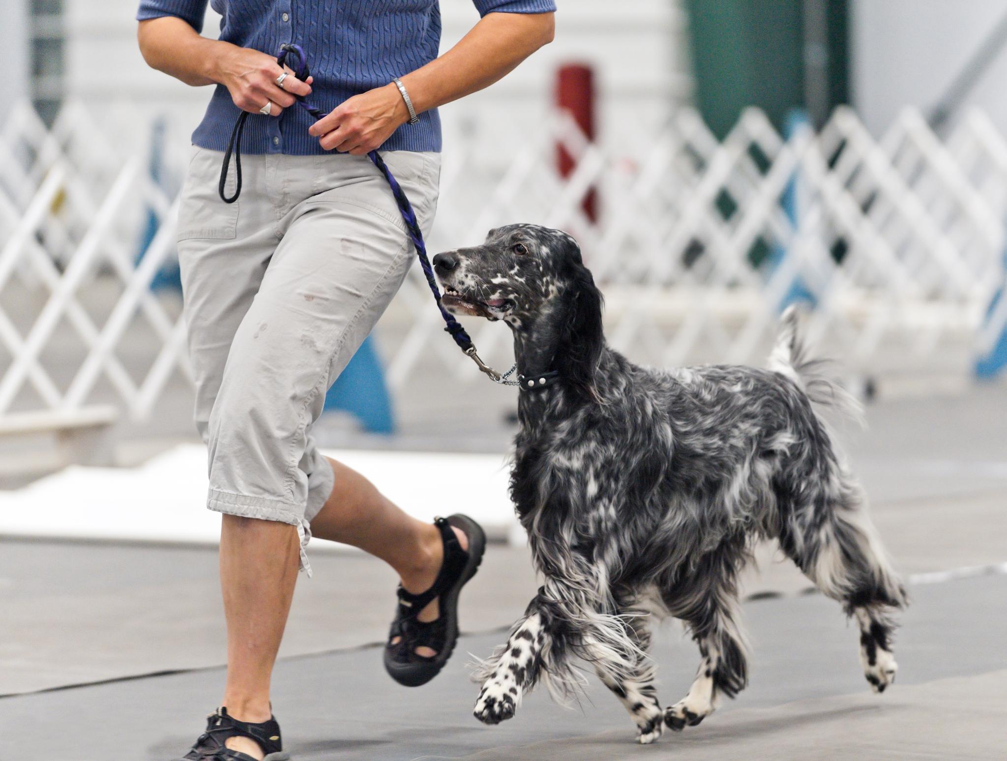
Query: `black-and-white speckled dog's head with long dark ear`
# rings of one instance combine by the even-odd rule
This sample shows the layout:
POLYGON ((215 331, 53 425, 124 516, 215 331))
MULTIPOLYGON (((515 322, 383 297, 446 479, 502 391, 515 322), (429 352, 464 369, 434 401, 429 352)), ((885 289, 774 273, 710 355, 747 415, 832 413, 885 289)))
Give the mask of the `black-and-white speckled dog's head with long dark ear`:
POLYGON ((485 243, 438 254, 442 304, 454 314, 503 320, 533 369, 553 366, 594 393, 603 346, 601 294, 566 233, 536 224, 489 231, 485 243))

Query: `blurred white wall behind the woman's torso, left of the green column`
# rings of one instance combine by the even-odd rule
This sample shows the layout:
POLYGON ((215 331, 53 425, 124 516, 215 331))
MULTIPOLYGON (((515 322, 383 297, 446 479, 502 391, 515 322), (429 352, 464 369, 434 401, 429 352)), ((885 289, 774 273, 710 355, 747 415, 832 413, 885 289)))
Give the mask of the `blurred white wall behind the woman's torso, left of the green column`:
MULTIPOLYGON (((552 98, 557 65, 594 64, 601 110, 599 129, 617 137, 646 129, 690 97, 679 0, 559 0, 556 41, 488 91, 442 110, 450 145, 466 121, 516 120, 534 129, 552 98)), ((207 89, 187 88, 146 66, 136 46, 137 0, 74 0, 66 13, 66 93, 96 109, 112 111, 136 129, 126 139, 146 140, 150 119, 170 117, 172 133, 187 137, 202 114, 207 89)), ((441 49, 478 20, 470 0, 441 0, 441 49)), ((218 17, 207 11, 203 34, 215 36, 218 17)), ((310 51, 308 51, 310 54, 310 51)), ((177 136, 175 139, 180 139, 177 136)))

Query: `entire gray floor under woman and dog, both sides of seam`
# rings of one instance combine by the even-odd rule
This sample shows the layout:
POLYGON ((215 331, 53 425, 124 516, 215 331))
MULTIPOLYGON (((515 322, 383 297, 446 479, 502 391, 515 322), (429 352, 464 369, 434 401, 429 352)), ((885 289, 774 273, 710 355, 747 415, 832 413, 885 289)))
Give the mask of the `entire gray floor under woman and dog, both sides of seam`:
MULTIPOLYGON (((501 409, 424 421, 422 444, 454 451, 481 431, 486 447, 503 449, 501 409)), ((1007 389, 983 387, 887 401, 869 408, 868 430, 844 429, 875 521, 910 578, 1007 561, 1005 409, 1007 389)), ((408 432, 388 442, 339 441, 338 426, 330 435, 330 443, 417 444, 408 432)), ((287 744, 304 761, 1007 758, 1007 577, 913 586, 898 683, 877 697, 838 607, 802 596, 807 581, 762 548, 745 591, 784 596, 745 605, 751 687, 701 727, 638 748, 600 687, 576 710, 534 694, 500 727, 471 719, 476 691, 463 653, 488 653, 495 630, 534 593, 527 551, 490 550, 462 599, 463 630, 474 633, 438 679, 416 691, 389 680, 380 650, 359 648, 387 629, 391 572, 363 555, 312 552, 315 576, 298 585, 275 682, 287 744)), ((172 758, 220 695, 222 623, 211 550, 0 540, 0 696, 10 696, 0 698, 0 761, 172 758), (184 672, 142 676, 166 669, 184 672)), ((670 629, 656 654, 662 699, 678 700, 695 648, 670 629)))

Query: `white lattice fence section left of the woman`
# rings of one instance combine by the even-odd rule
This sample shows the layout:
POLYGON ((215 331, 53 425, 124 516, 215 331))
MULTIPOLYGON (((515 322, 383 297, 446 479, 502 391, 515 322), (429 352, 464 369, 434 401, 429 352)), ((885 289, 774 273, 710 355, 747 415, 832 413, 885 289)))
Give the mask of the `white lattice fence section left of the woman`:
POLYGON ((177 297, 150 283, 174 254, 176 202, 70 105, 46 130, 26 105, 0 136, 0 417, 71 411, 99 382, 135 418, 187 375, 177 297), (137 264, 147 213, 161 222, 137 264), (120 356, 131 346, 129 366, 120 356))

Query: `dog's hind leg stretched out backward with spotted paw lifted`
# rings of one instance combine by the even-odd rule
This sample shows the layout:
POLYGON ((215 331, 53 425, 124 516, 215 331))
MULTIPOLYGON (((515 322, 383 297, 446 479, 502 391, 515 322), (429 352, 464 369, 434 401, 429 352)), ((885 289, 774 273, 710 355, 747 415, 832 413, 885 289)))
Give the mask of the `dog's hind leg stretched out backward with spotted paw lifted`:
POLYGON ((844 477, 841 496, 796 509, 780 547, 827 596, 843 603, 860 629, 860 661, 876 693, 895 679, 890 613, 906 603, 860 490, 844 477), (814 527, 810 527, 814 526, 814 527))

